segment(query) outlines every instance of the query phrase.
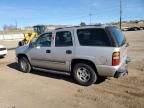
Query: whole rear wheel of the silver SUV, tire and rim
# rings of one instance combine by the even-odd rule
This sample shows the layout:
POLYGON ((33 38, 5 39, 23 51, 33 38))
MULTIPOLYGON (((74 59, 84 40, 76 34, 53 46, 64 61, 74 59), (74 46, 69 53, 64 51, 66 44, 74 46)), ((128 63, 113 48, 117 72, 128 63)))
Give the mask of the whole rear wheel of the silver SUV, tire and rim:
POLYGON ((83 86, 90 86, 97 80, 97 74, 94 69, 85 63, 78 63, 73 69, 74 80, 83 86))

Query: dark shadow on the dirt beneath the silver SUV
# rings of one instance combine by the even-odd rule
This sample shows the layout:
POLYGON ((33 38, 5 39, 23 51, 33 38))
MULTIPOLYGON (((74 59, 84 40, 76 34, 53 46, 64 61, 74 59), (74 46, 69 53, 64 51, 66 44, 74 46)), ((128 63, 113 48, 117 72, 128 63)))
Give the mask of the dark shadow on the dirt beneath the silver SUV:
MULTIPOLYGON (((22 72, 22 71, 20 71, 17 63, 11 63, 11 64, 8 64, 7 66, 9 68, 18 70, 19 72, 22 72)), ((54 79, 58 79, 58 80, 65 80, 67 82, 76 84, 73 77, 71 77, 71 75, 54 74, 54 73, 51 73, 51 72, 48 72, 48 71, 45 72, 45 71, 40 71, 40 70, 32 70, 32 72, 30 72, 30 73, 35 74, 35 75, 39 75, 39 76, 43 76, 43 77, 54 78, 54 79)), ((105 80, 106 80, 105 77, 99 77, 95 84, 101 84, 105 80)))

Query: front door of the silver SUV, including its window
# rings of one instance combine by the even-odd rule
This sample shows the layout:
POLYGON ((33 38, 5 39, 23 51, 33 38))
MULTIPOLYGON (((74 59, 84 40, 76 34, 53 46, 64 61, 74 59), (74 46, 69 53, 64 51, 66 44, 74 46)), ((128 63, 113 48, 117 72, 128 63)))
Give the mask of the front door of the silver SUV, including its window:
POLYGON ((49 68, 49 58, 51 58, 51 37, 52 33, 40 35, 34 42, 34 47, 29 49, 28 55, 33 66, 49 68))

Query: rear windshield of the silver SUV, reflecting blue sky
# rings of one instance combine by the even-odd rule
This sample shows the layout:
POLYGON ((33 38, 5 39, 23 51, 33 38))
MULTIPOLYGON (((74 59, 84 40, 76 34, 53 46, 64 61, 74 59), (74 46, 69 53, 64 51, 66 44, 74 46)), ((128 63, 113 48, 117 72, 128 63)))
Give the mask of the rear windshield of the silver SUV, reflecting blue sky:
POLYGON ((118 46, 122 46, 122 45, 125 44, 126 38, 125 38, 124 34, 122 33, 122 31, 119 28, 110 27, 110 28, 108 28, 108 31, 113 36, 113 38, 116 41, 116 44, 118 46))

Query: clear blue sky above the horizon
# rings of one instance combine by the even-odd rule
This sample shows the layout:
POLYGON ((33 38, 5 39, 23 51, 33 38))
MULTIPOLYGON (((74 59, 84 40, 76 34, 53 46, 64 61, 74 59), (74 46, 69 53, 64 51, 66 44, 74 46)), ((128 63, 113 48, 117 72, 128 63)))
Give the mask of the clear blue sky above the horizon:
MULTIPOLYGON (((120 0, 0 0, 0 29, 116 22, 119 11, 120 0)), ((122 20, 144 20, 144 0, 122 0, 122 20)))

